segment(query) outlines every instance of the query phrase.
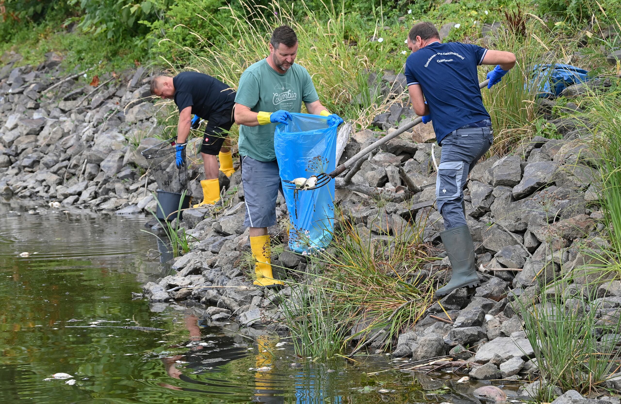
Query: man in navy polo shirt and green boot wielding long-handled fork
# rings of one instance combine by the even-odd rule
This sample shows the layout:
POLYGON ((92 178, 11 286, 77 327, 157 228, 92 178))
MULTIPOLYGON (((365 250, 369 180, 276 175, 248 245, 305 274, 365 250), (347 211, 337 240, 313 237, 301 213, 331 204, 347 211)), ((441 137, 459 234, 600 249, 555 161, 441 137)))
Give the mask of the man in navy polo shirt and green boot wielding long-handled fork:
POLYGON ((414 25, 407 36, 407 89, 414 112, 432 121, 442 158, 436 180, 436 205, 446 230, 440 233, 453 267, 451 280, 437 296, 478 285, 474 244, 466 225, 463 188, 474 164, 492 145, 489 114, 483 106, 478 65, 497 65, 487 73, 491 88, 515 65, 510 52, 460 42, 440 42, 430 22, 414 25))

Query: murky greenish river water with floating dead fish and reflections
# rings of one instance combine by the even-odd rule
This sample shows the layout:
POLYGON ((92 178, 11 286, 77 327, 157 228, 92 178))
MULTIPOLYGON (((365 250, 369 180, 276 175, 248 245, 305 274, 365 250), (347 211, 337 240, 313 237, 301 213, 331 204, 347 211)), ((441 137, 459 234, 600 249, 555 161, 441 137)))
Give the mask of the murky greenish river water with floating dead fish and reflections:
POLYGON ((2 403, 472 402, 450 374, 368 376, 386 356, 314 362, 201 307, 132 300, 169 271, 144 222, 0 204, 2 403))

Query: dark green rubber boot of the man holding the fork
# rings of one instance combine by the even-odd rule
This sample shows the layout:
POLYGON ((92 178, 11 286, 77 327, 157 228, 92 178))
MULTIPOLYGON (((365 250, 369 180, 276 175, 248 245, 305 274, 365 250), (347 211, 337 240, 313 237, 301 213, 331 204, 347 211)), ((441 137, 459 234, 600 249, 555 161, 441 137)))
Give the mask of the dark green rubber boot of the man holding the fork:
POLYGON ((460 287, 473 287, 481 284, 474 267, 474 244, 468 226, 442 231, 440 238, 446 246, 446 253, 453 267, 453 275, 446 286, 435 292, 435 296, 448 295, 460 287))

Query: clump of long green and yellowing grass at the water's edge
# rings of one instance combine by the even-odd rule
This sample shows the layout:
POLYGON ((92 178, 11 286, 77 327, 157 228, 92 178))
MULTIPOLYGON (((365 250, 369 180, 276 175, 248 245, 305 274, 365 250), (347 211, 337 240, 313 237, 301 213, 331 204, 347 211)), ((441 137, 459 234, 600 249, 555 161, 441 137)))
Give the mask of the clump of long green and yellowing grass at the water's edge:
MULTIPOLYGON (((378 215, 373 222, 379 220, 378 215)), ((428 262, 423 228, 371 239, 366 228, 342 217, 329 248, 310 256, 309 269, 292 287, 294 297, 283 303, 284 323, 294 337, 296 353, 347 356, 353 341, 366 345, 381 334, 379 338, 389 345, 414 325, 435 290, 433 279, 417 278, 428 262)))

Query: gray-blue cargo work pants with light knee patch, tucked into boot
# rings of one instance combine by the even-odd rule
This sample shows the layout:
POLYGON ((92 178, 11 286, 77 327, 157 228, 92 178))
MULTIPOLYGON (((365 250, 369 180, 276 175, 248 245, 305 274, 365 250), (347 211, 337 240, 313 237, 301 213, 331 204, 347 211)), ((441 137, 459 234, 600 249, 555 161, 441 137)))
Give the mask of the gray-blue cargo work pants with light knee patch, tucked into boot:
POLYGON ((461 202, 468 174, 494 140, 492 127, 460 128, 442 139, 442 157, 435 181, 438 211, 446 229, 466 225, 461 202))

